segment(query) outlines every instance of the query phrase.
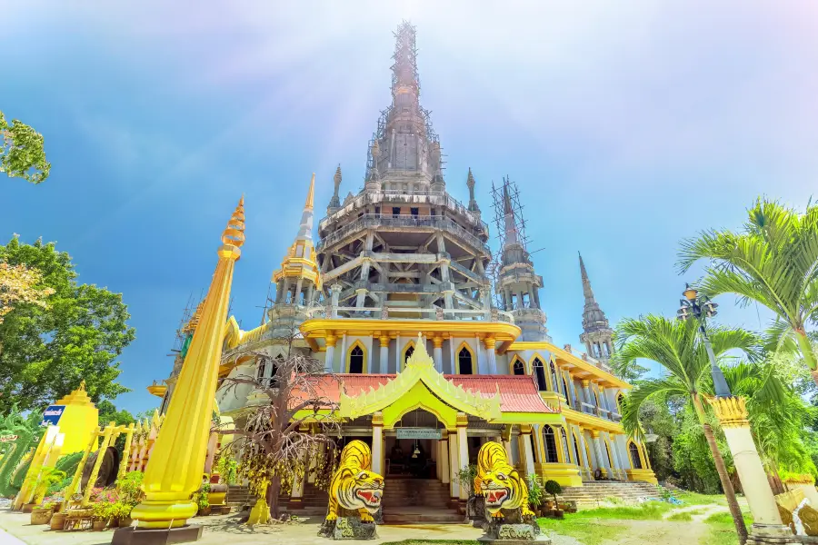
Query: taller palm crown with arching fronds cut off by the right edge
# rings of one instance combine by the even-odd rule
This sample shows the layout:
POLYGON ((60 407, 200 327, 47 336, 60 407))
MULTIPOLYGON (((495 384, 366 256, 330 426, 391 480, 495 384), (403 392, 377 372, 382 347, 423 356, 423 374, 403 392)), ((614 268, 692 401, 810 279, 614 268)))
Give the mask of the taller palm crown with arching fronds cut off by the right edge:
POLYGON ((818 358, 806 332, 807 323, 818 322, 818 205, 799 214, 759 199, 748 212, 741 233, 712 230, 684 241, 679 268, 686 272, 707 259, 702 292, 735 293, 743 304, 755 301, 773 311, 775 341, 794 341, 818 385, 818 358))

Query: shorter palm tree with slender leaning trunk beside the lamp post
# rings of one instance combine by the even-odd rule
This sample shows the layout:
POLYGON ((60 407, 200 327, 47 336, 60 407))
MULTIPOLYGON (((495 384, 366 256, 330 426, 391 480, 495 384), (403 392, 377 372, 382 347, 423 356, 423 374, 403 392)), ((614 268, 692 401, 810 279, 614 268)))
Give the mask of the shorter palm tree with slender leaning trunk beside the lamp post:
MULTIPOLYGON (((626 319, 619 324, 616 332, 617 351, 613 356, 617 372, 632 368, 640 359, 657 362, 667 371, 667 375, 661 379, 640 382, 628 394, 623 403, 622 423, 625 431, 641 436, 643 432, 639 425, 639 409, 644 401, 667 394, 689 399, 713 454, 739 540, 744 543, 747 540, 747 528, 742 511, 735 499, 733 484, 704 410, 703 394, 713 391, 713 383, 710 377, 710 360, 698 329, 699 322, 694 318, 679 322, 655 315, 636 320, 626 319)), ((743 351, 753 359, 758 355, 759 339, 753 333, 741 329, 711 328, 710 341, 717 359, 725 359, 728 357, 726 352, 734 349, 743 351)))

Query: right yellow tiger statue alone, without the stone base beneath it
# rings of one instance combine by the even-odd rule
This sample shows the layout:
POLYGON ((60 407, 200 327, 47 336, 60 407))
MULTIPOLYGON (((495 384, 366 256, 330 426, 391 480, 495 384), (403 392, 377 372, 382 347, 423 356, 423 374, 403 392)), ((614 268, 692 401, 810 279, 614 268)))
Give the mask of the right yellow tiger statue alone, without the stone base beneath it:
POLYGON ((528 485, 508 462, 503 445, 489 441, 477 453, 474 493, 484 496, 485 508, 492 517, 503 517, 501 509, 520 508, 521 514, 534 516, 528 508, 528 485))

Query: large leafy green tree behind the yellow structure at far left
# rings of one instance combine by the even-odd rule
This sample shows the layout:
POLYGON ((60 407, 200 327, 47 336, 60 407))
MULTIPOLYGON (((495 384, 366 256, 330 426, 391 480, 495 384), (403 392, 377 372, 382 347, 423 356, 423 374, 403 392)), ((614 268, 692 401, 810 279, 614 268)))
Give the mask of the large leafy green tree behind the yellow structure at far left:
POLYGON ((20 303, 0 323, 0 412, 12 401, 23 411, 42 407, 75 390, 85 379, 94 401, 128 391, 116 382, 116 358, 134 340, 122 295, 78 284, 68 253, 54 243, 0 245, 0 262, 24 264, 54 290, 48 308, 20 303))

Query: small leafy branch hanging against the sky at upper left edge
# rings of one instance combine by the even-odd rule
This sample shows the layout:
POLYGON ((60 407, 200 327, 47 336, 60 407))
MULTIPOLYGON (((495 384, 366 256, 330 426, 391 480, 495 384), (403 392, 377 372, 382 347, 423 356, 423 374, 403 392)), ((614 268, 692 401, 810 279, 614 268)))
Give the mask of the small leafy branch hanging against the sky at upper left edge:
POLYGON ((51 163, 45 160, 43 135, 18 119, 8 124, 0 112, 0 173, 41 183, 50 171, 51 163))

